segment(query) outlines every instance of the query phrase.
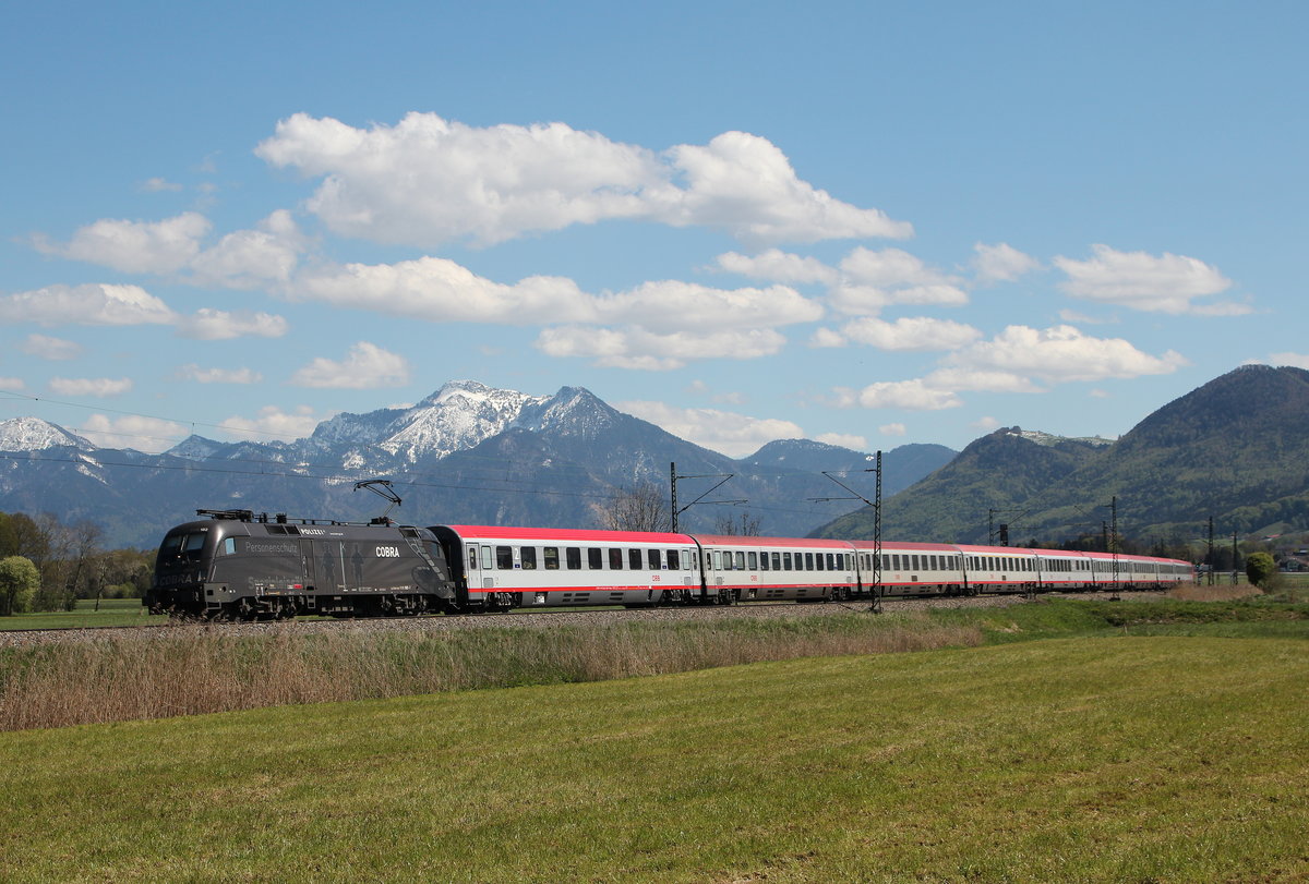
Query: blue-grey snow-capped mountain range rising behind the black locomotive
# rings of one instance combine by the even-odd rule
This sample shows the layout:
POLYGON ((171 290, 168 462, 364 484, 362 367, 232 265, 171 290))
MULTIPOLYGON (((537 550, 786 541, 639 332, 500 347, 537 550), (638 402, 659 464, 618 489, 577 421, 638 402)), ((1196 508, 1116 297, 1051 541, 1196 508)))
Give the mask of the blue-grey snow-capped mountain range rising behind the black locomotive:
MULTIPOLYGON (((355 481, 382 477, 395 483, 404 500, 398 517, 412 524, 600 527, 605 501, 647 483, 666 486, 673 463, 689 476, 689 500, 707 490, 699 477, 733 476, 730 490, 681 515, 685 530, 711 530, 732 510, 713 497, 747 498, 762 528, 783 536, 855 506, 797 506, 830 497, 830 483, 800 463, 751 464, 709 451, 583 387, 533 396, 456 381, 411 407, 336 415, 293 442, 191 435, 158 455, 96 449, 37 418, 5 421, 0 433, 0 450, 31 451, 0 462, 0 511, 92 519, 119 545, 153 545, 199 507, 367 519, 377 515, 376 501, 353 493, 355 481), (67 446, 77 458, 64 454, 67 446), (46 447, 64 451, 43 456, 38 449, 46 447)), ((850 451, 846 459, 865 456, 850 451)))

